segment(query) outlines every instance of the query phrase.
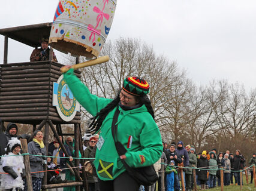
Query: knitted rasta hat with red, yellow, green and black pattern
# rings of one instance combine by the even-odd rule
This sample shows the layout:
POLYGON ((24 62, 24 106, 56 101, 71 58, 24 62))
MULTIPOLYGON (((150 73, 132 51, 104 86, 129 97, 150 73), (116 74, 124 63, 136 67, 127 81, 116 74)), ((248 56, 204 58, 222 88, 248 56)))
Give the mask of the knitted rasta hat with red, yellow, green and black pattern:
POLYGON ((129 77, 125 78, 122 89, 133 96, 143 97, 149 93, 149 84, 144 79, 129 77))

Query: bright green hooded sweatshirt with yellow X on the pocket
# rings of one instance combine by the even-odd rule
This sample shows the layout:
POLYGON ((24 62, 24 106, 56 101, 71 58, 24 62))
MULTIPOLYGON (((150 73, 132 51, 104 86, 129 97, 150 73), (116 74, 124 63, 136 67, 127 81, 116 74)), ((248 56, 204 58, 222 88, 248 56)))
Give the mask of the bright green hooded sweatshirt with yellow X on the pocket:
MULTIPOLYGON (((92 95, 88 88, 74 75, 74 69, 64 73, 64 79, 77 101, 95 116, 107 106, 112 99, 100 98, 92 95)), ((119 109, 117 138, 127 153, 125 162, 129 167, 147 167, 153 165, 162 154, 161 134, 146 106, 123 110, 120 106, 109 112, 100 129, 100 138, 94 165, 101 180, 114 180, 125 171, 125 167, 116 151, 112 137, 112 121, 115 110, 119 109)))

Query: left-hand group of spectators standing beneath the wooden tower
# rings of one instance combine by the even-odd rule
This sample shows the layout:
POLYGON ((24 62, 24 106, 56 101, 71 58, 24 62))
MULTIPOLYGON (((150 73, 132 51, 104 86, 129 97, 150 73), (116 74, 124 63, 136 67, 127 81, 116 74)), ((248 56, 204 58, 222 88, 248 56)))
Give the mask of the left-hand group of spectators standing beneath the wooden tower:
MULTIPOLYGON (((25 137, 29 139, 30 136, 18 135, 17 132, 17 125, 10 123, 7 125, 5 133, 0 133, 0 156, 2 156, 0 162, 0 190, 28 190, 28 184, 25 180, 25 165, 23 162, 23 156, 21 155, 22 150, 19 139, 25 137)), ((56 136, 54 136, 53 141, 49 143, 48 153, 46 153, 46 146, 43 141, 43 131, 34 131, 32 137, 32 141, 28 142, 28 153, 30 170, 32 172, 31 177, 33 191, 41 190, 45 165, 47 167, 47 184, 58 184, 67 183, 68 181, 75 181, 75 176, 73 175, 74 172, 68 168, 70 167, 70 163, 74 162, 74 138, 67 136, 65 141, 63 141, 62 136, 59 136, 59 140, 64 143, 65 150, 67 150, 67 156, 65 155, 64 150, 62 150, 62 147, 60 146, 56 136)), ((86 134, 83 137, 83 152, 85 158, 95 158, 95 145, 97 141, 98 135, 93 136, 91 134, 86 134)), ((79 152, 79 158, 81 157, 82 155, 79 152)), ((91 164, 93 165, 92 162, 93 161, 91 161, 91 164)), ((80 166, 81 165, 82 164, 80 164, 80 166)), ((93 174, 88 173, 87 177, 89 190, 99 190, 97 184, 98 178, 95 170, 93 174)), ((48 190, 73 191, 76 190, 76 187, 60 187, 48 190)))

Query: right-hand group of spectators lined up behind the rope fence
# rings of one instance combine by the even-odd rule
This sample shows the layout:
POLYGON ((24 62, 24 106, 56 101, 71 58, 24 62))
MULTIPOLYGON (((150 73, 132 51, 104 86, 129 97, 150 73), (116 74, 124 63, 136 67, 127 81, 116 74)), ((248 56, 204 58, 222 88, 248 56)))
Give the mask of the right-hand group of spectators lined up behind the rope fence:
MULTIPOLYGON (((195 147, 189 144, 184 149, 182 141, 179 141, 177 146, 176 143, 173 142, 169 147, 163 142, 163 146, 164 149, 162 153, 164 156, 162 156, 162 159, 164 159, 164 162, 167 165, 165 168, 164 186, 167 191, 182 189, 182 184, 180 184, 181 179, 184 180, 185 190, 193 190, 194 177, 191 167, 196 167, 195 178, 197 180, 197 185, 200 185, 201 190, 221 186, 221 169, 224 172, 224 186, 241 184, 240 170, 245 168, 245 158, 239 149, 234 152, 234 155, 227 150, 225 153, 219 152, 217 156, 216 149, 210 151, 203 150, 202 152, 196 153, 195 147), (181 169, 184 178, 180 177, 181 169)), ((249 165, 256 165, 255 153, 252 154, 249 165)), ((250 183, 252 183, 252 168, 250 171, 250 183)), ((158 190, 161 189, 161 186, 162 185, 159 184, 158 190)))

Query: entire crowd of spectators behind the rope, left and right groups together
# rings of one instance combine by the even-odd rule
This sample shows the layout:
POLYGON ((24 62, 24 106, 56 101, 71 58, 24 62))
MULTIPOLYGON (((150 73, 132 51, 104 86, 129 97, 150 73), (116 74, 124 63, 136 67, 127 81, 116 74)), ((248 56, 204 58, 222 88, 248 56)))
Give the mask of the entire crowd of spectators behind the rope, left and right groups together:
MULTIPOLYGON (((0 190, 28 190, 24 176, 25 167, 23 164, 23 157, 20 155, 22 152, 20 151, 21 144, 19 138, 24 138, 24 136, 17 135, 17 132, 17 125, 10 123, 7 125, 5 133, 0 133, 0 156, 8 155, 8 158, 2 157, 1 159, 0 170, 1 172, 7 172, 8 174, 1 174, 0 190), (12 184, 7 184, 7 181, 12 182, 12 184)), ((49 144, 48 153, 46 153, 43 137, 44 135, 42 131, 34 131, 33 139, 28 143, 31 172, 36 172, 31 174, 32 186, 35 191, 41 190, 41 184, 44 177, 44 165, 47 165, 47 170, 49 170, 47 172, 47 184, 74 181, 73 172, 68 169, 68 167, 70 167, 69 164, 74 162, 74 138, 67 136, 65 141, 62 141, 62 137, 59 136, 59 140, 64 143, 65 149, 68 152, 68 156, 65 156, 65 153, 58 142, 58 138, 56 137, 54 137, 54 140, 49 144)), ((87 174, 89 191, 100 190, 98 186, 97 173, 93 165, 98 138, 98 135, 92 136, 91 134, 85 134, 83 137, 84 157, 86 158, 86 161, 89 161, 90 164, 92 164, 92 173, 87 174)), ((197 167, 195 170, 195 178, 197 180, 197 184, 200 185, 201 190, 221 186, 221 168, 224 171, 224 186, 228 186, 230 184, 241 184, 239 171, 243 170, 245 167, 245 158, 238 149, 234 154, 230 153, 229 150, 225 153, 219 152, 217 154, 216 149, 212 149, 210 151, 203 150, 202 152, 196 153, 194 146, 188 144, 184 147, 182 141, 178 141, 177 145, 174 142, 170 145, 163 142, 162 146, 162 156, 154 165, 156 172, 159 171, 158 183, 155 183, 150 187, 142 186, 140 187, 140 190, 154 191, 156 190, 156 186, 158 186, 158 190, 161 190, 162 186, 164 186, 167 191, 180 190, 182 189, 182 186, 184 186, 187 191, 192 190, 194 187, 194 174, 192 169, 194 167, 197 167), (165 164, 164 185, 161 183, 161 159, 163 159, 165 164), (181 170, 182 173, 180 173, 181 170), (181 184, 180 180, 184 180, 184 184, 181 184)), ((79 153, 79 157, 81 156, 81 153, 79 153)), ((255 153, 252 154, 252 157, 249 160, 249 165, 256 165, 255 153)), ((251 175, 250 183, 252 183, 252 180, 253 175, 251 175)), ((48 190, 71 191, 76 190, 76 188, 62 187, 48 190)))

